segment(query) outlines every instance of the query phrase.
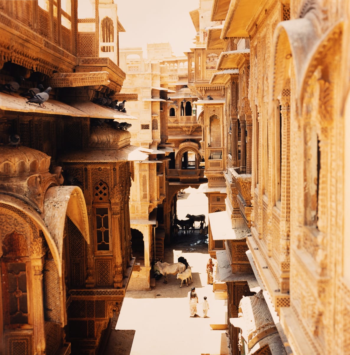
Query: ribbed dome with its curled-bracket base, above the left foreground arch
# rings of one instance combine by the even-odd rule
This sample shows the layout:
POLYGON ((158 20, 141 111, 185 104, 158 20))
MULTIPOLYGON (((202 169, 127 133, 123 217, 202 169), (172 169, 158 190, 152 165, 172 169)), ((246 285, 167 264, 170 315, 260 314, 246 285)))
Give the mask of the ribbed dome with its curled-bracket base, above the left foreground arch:
POLYGON ((32 148, 0 146, 0 191, 27 200, 43 212, 50 185, 61 185, 62 169, 49 172, 51 157, 32 148))

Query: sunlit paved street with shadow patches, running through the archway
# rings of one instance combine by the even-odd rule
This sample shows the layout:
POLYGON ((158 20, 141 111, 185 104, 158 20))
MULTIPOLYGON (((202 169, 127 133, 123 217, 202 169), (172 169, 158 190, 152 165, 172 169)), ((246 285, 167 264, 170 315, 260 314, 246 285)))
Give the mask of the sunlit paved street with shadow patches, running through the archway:
MULTIPOLYGON (((199 213, 200 195, 204 194, 196 196, 196 190, 192 190, 179 201, 180 219, 185 218, 188 211, 199 213), (197 206, 194 206, 196 203, 197 206)), ((206 207, 202 204, 202 209, 206 207)), ((207 284, 205 268, 209 259, 208 244, 199 235, 198 227, 189 235, 180 232, 179 241, 165 247, 165 262, 177 262, 179 256, 184 256, 190 264, 193 284, 186 287, 184 283, 180 288, 180 280, 176 279, 176 275, 169 275, 168 284, 163 283, 162 277, 156 280, 156 286, 149 291, 127 291, 115 328, 117 331, 109 339, 113 344, 107 346, 115 351, 105 354, 228 354, 226 330, 211 328, 213 324, 226 324, 227 300, 214 299, 213 285, 207 284), (199 300, 197 314, 200 317, 196 318, 190 318, 189 313, 188 292, 192 286, 196 287, 199 300), (203 318, 202 311, 204 296, 209 302, 207 318, 203 318)))

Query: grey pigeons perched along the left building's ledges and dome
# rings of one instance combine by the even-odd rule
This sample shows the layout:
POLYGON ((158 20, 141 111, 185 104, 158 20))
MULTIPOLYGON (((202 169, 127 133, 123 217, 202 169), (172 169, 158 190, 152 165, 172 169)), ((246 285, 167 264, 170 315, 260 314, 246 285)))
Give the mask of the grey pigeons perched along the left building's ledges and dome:
MULTIPOLYGON (((13 80, 7 82, 6 84, 2 84, 0 87, 0 91, 13 95, 14 93, 18 92, 23 82, 24 82, 24 77, 20 76, 16 81, 13 80)), ((38 84, 36 88, 30 88, 26 92, 23 92, 19 95, 28 99, 26 103, 38 104, 40 107, 45 107, 44 103, 49 99, 50 91, 51 91, 50 86, 44 89, 44 86, 42 84, 38 84)), ((106 97, 101 97, 93 100, 93 102, 98 105, 106 106, 111 109, 126 113, 126 109, 125 109, 126 100, 123 100, 123 102, 120 102, 118 104, 118 100, 111 100, 106 97)), ((92 119, 91 124, 93 126, 101 126, 103 122, 105 122, 105 119, 95 118, 92 119)), ((128 128, 131 127, 131 123, 127 123, 127 122, 119 123, 113 120, 106 120, 106 122, 114 129, 121 129, 127 131, 128 128)), ((21 138, 17 134, 12 134, 9 136, 9 145, 13 148, 19 148, 20 141, 21 138)))

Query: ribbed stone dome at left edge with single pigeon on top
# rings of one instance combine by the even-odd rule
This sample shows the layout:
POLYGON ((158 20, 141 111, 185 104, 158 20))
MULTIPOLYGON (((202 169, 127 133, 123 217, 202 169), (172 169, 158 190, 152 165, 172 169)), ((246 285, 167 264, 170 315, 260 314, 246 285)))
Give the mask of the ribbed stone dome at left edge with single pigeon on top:
POLYGON ((0 146, 0 180, 47 173, 50 160, 51 157, 32 148, 0 146))

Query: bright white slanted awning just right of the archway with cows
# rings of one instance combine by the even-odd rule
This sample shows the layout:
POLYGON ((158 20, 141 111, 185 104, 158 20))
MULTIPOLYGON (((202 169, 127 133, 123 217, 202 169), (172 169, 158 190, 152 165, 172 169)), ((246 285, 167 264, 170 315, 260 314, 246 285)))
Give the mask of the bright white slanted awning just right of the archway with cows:
POLYGON ((232 228, 227 211, 208 214, 213 240, 240 240, 250 233, 249 228, 232 228))

